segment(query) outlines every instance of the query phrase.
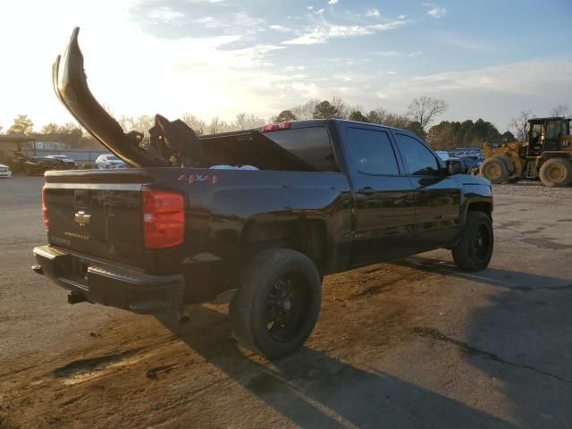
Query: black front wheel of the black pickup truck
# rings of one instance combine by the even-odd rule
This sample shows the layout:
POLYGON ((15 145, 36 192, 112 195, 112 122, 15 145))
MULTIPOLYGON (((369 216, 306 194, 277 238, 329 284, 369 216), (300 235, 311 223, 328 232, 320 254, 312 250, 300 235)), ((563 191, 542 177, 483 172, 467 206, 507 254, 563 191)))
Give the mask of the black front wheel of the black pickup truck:
POLYGON ((491 262, 493 242, 492 221, 488 214, 468 212, 461 240, 453 248, 455 264, 464 271, 484 270, 491 262))

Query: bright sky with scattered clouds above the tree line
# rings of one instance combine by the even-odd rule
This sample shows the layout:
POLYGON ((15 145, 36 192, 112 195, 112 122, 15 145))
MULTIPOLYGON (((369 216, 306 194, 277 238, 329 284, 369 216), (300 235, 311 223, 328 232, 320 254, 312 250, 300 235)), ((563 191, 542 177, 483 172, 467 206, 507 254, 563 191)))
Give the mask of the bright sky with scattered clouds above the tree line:
POLYGON ((501 131, 572 109, 572 1, 11 0, 0 6, 0 125, 70 122, 51 65, 80 27, 88 85, 121 114, 263 118, 310 98, 501 131), (541 6, 542 4, 542 6, 541 6))

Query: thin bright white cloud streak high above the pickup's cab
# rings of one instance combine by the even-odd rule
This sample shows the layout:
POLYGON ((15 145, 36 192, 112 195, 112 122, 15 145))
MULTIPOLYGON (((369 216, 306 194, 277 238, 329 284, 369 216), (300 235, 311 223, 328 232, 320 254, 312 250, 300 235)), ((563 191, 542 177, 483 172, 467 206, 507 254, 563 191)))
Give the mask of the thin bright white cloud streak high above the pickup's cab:
POLYGON ((319 45, 327 43, 331 38, 352 38, 356 36, 367 36, 379 31, 389 29, 399 29, 407 24, 406 20, 390 21, 379 24, 368 25, 332 25, 322 24, 307 30, 305 34, 298 38, 284 40, 283 45, 319 45))

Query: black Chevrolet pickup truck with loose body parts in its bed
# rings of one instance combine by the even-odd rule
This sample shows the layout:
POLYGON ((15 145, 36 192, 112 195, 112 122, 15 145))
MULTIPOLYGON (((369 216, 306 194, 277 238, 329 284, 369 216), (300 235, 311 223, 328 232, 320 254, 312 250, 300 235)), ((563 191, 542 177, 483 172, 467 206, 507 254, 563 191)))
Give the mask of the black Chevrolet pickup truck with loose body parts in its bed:
POLYGON ((490 183, 458 174, 408 131, 331 119, 199 138, 157 115, 143 145, 89 92, 77 29, 54 83, 130 165, 46 172, 49 244, 34 248, 34 269, 71 303, 152 314, 237 290, 237 338, 275 358, 312 332, 324 275, 433 248, 450 248, 462 270, 489 264, 490 183), (229 167, 240 165, 257 169, 229 167))

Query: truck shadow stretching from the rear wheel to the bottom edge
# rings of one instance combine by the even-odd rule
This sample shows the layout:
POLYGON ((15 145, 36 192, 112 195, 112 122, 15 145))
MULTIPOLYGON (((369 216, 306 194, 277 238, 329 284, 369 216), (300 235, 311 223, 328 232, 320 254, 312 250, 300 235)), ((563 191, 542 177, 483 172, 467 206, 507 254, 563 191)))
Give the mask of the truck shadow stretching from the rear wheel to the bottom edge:
MULTIPOLYGON (((243 352, 231 339, 227 315, 197 307, 193 320, 198 323, 191 322, 182 330, 167 320, 162 322, 189 348, 295 425, 400 429, 515 427, 457 400, 390 374, 351 366, 319 350, 305 347, 293 356, 269 364, 243 352)), ((247 426, 259 425, 256 418, 241 413, 240 421, 247 426)))

